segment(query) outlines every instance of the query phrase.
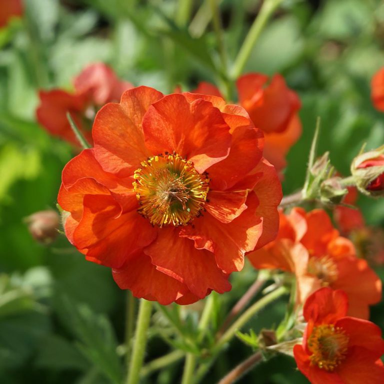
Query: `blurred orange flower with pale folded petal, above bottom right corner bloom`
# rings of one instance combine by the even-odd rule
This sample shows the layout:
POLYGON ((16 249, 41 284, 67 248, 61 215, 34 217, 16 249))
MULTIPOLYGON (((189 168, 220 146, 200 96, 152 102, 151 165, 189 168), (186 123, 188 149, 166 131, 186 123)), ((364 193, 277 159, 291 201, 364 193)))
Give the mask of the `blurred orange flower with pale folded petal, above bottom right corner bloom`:
POLYGON ((276 240, 248 257, 256 268, 278 268, 292 272, 297 280, 297 304, 322 286, 348 294, 348 314, 369 317, 369 305, 381 298, 381 281, 366 260, 356 257, 353 243, 339 236, 322 209, 306 213, 293 208, 280 211, 276 240))

